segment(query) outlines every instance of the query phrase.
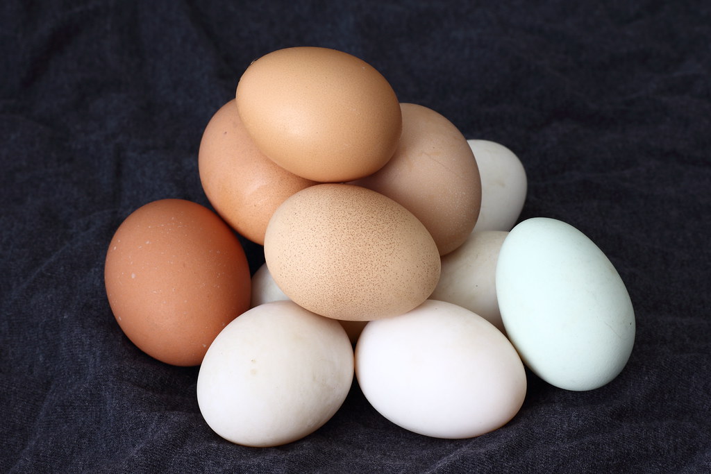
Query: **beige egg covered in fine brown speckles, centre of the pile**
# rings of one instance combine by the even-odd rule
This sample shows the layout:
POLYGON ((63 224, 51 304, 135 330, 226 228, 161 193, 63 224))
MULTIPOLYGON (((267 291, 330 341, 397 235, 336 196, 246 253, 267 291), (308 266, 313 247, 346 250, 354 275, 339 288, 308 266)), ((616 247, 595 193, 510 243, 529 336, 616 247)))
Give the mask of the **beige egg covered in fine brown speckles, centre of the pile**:
POLYGON ((295 303, 346 321, 410 311, 439 280, 422 222, 375 191, 318 184, 279 206, 264 237, 272 278, 295 303))

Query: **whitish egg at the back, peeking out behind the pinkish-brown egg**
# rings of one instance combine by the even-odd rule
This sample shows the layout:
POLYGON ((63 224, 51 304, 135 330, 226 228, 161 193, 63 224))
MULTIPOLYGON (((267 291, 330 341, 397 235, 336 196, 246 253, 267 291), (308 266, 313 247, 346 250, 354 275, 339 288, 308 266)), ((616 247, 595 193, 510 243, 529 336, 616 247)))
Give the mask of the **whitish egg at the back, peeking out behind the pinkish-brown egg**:
POLYGON ((513 151, 493 141, 467 140, 481 176, 481 210, 474 231, 511 230, 523 209, 528 180, 513 151))

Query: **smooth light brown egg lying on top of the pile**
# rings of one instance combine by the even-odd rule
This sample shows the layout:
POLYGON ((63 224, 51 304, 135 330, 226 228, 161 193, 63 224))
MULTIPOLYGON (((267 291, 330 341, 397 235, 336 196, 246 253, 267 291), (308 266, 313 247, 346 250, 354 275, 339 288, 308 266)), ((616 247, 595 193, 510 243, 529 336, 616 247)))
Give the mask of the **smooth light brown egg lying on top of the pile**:
POLYGON ((400 139, 395 92, 373 66, 328 48, 277 50, 237 85, 237 109, 257 147, 304 178, 350 181, 382 168, 400 139))

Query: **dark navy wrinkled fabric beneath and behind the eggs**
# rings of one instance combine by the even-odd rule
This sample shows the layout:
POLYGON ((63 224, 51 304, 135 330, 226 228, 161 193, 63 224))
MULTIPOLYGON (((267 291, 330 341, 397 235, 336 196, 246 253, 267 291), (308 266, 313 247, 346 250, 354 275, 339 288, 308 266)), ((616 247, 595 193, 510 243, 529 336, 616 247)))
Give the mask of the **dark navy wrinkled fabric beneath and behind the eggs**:
POLYGON ((0 471, 711 470, 709 2, 15 0, 0 18, 0 471), (209 205, 205 125, 251 60, 292 45, 357 55, 401 102, 518 154, 522 218, 574 225, 629 289, 619 377, 567 392, 529 374, 518 416, 466 440, 400 429, 357 386, 287 446, 209 429, 198 369, 119 330, 105 252, 151 200, 209 205))

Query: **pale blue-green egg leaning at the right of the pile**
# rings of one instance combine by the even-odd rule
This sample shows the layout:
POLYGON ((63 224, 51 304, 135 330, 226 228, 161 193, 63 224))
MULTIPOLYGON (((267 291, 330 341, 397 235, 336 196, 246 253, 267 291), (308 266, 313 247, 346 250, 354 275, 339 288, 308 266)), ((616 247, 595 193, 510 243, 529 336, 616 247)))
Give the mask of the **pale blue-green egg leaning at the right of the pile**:
POLYGON ((545 382, 597 389, 629 360, 635 318, 626 286, 570 224, 534 217, 513 227, 498 254, 496 294, 508 338, 545 382))

